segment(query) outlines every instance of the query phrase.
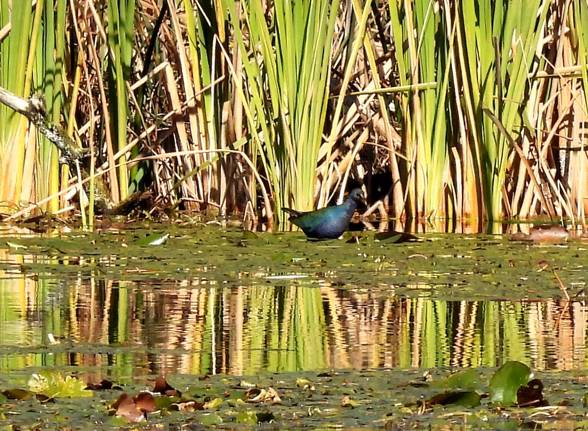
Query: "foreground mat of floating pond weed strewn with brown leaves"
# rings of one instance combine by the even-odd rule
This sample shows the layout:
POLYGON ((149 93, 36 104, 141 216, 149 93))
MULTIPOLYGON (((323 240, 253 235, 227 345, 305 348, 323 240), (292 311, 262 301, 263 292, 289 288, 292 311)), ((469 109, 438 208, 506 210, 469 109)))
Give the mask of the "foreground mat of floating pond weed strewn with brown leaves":
POLYGON ((169 376, 151 391, 102 380, 42 370, 31 389, 0 394, 2 422, 11 429, 88 426, 128 429, 527 429, 585 426, 583 377, 570 373, 533 378, 520 362, 507 362, 482 374, 464 369, 365 370, 363 372, 265 373, 256 377, 169 376), (491 376, 491 377, 490 377, 491 376), (489 382, 488 386, 485 387, 489 382), (543 390, 552 403, 543 398, 543 390), (129 394, 131 393, 131 394, 129 394), (33 425, 34 424, 34 425, 33 425))

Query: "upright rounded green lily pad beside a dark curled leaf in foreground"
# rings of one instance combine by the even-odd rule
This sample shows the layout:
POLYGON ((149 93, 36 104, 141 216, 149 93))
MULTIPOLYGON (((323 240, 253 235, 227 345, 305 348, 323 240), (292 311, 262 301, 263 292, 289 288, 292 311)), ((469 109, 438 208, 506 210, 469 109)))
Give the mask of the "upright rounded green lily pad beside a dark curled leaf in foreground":
POLYGON ((505 363, 490 379, 490 401, 508 406, 515 404, 517 390, 532 378, 533 373, 522 362, 505 363))

